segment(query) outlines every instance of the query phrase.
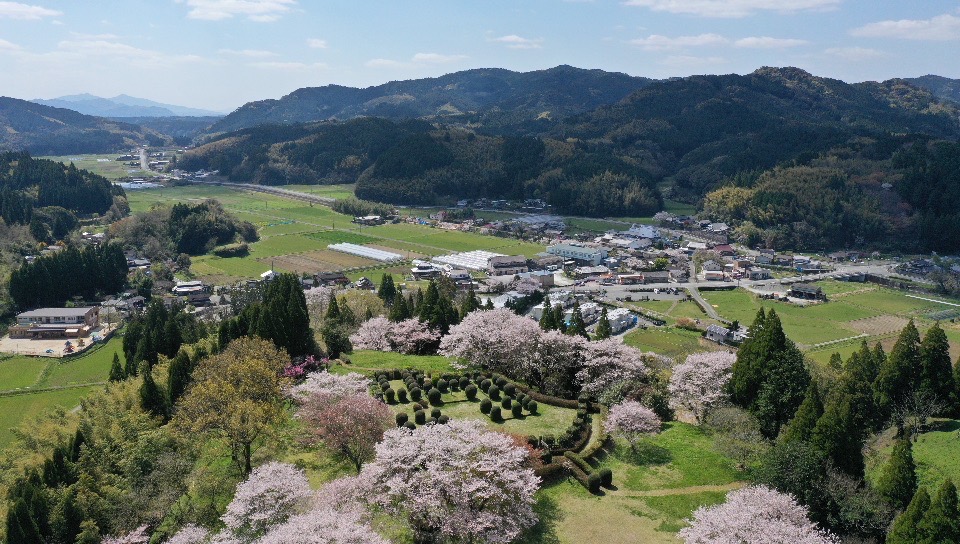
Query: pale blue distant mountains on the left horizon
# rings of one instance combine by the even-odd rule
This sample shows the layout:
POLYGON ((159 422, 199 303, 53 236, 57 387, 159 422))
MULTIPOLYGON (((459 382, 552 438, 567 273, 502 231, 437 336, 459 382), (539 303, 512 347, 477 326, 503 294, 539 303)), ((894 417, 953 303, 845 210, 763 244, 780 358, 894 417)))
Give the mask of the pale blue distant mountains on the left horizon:
POLYGON ((49 100, 31 100, 36 104, 66 108, 97 117, 209 117, 221 116, 222 112, 163 104, 146 98, 125 94, 103 98, 92 94, 73 94, 49 100))

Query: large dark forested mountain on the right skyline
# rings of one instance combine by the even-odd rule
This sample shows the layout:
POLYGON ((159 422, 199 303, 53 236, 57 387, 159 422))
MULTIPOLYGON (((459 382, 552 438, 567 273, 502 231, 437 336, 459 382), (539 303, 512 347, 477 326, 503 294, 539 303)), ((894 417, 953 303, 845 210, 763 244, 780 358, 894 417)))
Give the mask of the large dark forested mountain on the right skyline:
POLYGON ((608 146, 696 202, 721 180, 858 136, 960 134, 957 105, 904 80, 847 84, 798 68, 654 83, 551 133, 608 146))

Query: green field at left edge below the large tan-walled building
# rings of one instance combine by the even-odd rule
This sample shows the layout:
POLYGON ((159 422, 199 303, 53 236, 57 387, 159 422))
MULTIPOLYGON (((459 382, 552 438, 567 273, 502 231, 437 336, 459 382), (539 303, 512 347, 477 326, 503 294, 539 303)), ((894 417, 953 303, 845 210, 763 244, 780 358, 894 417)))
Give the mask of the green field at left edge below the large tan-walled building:
POLYGON ((123 360, 121 337, 63 359, 14 356, 0 360, 0 449, 11 438, 10 429, 24 418, 54 406, 72 409, 80 399, 106 383, 113 354, 123 360))

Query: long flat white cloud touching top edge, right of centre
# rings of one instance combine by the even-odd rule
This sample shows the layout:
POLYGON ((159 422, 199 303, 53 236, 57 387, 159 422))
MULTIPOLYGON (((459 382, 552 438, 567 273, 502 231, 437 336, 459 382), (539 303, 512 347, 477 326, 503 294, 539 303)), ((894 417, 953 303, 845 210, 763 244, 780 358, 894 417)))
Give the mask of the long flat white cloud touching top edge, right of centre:
POLYGON ((626 0, 624 5, 701 17, 746 17, 758 11, 793 13, 826 10, 842 0, 626 0))

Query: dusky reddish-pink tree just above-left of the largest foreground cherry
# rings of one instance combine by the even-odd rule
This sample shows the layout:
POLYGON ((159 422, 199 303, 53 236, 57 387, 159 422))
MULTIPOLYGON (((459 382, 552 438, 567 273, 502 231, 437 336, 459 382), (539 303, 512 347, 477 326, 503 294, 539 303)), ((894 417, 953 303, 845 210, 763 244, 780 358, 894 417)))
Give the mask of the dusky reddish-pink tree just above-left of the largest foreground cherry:
POLYGON ((302 401, 297 416, 313 442, 322 441, 353 463, 357 472, 373 458, 383 433, 395 425, 393 410, 366 393, 311 395, 302 401))

